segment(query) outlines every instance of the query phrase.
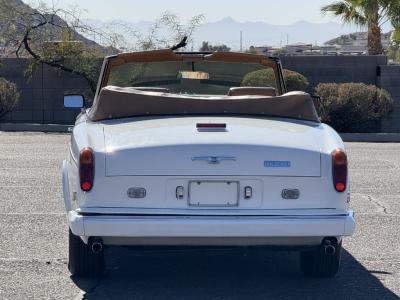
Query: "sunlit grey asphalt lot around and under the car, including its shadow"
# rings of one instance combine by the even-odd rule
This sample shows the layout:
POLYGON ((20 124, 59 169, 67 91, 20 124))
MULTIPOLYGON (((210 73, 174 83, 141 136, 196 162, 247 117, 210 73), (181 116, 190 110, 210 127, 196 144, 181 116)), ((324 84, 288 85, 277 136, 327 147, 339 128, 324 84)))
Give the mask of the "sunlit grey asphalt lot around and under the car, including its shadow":
POLYGON ((334 279, 303 278, 296 253, 106 252, 71 278, 61 162, 69 136, 0 132, 0 299, 399 299, 400 144, 348 144, 356 234, 334 279))

